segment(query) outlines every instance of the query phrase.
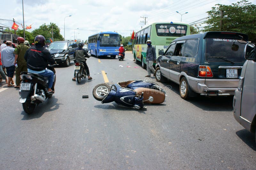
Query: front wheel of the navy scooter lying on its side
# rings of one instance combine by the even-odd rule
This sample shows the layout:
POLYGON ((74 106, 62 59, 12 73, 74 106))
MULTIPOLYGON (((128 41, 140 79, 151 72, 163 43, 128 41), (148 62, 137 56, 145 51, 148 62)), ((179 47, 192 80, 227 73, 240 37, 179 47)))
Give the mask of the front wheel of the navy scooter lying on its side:
POLYGON ((111 87, 106 83, 98 84, 94 87, 92 95, 96 100, 102 101, 111 91, 111 87))

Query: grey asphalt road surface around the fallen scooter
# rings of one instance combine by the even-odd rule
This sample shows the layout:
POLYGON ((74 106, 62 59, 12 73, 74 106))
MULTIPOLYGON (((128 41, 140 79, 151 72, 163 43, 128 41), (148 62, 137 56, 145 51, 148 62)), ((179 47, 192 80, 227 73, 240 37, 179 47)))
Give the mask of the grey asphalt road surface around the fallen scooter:
POLYGON ((54 96, 31 115, 19 89, 0 83, 1 169, 255 169, 254 135, 236 122, 231 97, 186 101, 167 82, 159 83, 165 102, 147 111, 101 104, 92 89, 106 81, 102 71, 113 83, 145 79, 147 71, 129 52, 124 61, 87 63, 93 80, 80 84, 71 81, 73 62, 58 66, 54 96))

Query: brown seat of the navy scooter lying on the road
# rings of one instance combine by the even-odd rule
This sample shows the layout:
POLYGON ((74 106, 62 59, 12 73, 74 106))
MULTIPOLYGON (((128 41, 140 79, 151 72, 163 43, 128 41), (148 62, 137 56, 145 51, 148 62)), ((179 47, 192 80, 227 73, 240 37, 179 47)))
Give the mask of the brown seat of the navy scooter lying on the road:
POLYGON ((156 89, 148 89, 148 88, 137 88, 136 91, 137 95, 141 95, 143 92, 143 100, 148 100, 148 97, 152 96, 154 98, 153 102, 149 100, 144 103, 150 104, 160 104, 163 103, 165 100, 165 94, 162 91, 156 89))

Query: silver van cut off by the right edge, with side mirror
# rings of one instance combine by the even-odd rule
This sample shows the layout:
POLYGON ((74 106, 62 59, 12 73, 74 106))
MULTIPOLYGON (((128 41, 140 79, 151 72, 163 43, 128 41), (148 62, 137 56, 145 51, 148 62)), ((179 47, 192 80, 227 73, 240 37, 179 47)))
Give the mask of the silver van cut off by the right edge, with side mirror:
POLYGON ((234 117, 247 130, 255 133, 256 141, 256 48, 255 44, 246 44, 244 63, 239 86, 233 100, 234 117))

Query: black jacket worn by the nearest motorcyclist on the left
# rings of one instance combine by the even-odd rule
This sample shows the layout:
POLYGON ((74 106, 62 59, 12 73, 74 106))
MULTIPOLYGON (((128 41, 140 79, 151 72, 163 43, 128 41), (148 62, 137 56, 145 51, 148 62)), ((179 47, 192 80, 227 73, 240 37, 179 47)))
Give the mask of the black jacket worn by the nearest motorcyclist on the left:
POLYGON ((55 60, 52 58, 50 52, 37 44, 34 47, 30 47, 24 56, 27 61, 29 69, 34 71, 42 71, 47 67, 47 64, 55 64, 55 60))

